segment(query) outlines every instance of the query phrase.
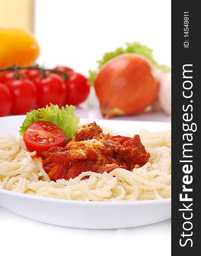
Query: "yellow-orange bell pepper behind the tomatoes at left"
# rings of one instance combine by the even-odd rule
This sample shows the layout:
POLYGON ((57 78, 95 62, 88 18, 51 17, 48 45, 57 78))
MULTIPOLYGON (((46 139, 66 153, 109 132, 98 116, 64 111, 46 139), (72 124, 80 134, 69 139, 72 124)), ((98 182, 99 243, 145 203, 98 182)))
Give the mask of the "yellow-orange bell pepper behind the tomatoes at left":
POLYGON ((40 47, 30 32, 0 28, 0 68, 34 64, 40 47))

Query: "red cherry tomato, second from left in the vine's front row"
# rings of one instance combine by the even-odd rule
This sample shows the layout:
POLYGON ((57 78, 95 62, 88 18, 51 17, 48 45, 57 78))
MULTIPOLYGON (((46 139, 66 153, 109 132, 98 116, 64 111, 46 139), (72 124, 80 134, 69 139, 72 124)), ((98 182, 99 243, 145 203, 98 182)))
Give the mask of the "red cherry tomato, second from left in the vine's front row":
POLYGON ((32 111, 37 100, 35 84, 29 79, 10 79, 6 85, 11 92, 11 113, 20 115, 32 111))

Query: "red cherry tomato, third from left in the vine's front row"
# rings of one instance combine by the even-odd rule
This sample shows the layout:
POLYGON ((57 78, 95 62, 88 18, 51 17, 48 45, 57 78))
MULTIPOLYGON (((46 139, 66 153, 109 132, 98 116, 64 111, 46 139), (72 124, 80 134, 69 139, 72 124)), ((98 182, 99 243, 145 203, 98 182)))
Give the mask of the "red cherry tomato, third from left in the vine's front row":
POLYGON ((49 103, 63 105, 66 96, 66 85, 63 79, 57 74, 47 74, 46 77, 34 79, 37 87, 37 104, 43 108, 49 103))

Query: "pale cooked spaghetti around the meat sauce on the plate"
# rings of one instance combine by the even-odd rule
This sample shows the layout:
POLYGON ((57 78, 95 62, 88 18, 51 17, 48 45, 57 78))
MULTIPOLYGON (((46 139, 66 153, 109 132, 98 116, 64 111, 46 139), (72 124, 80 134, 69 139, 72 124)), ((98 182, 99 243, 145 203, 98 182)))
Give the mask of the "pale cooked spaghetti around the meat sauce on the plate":
POLYGON ((28 152, 23 138, 0 138, 0 188, 31 195, 79 201, 135 201, 171 197, 171 133, 139 132, 149 162, 132 172, 83 172, 68 180, 50 181, 43 165, 28 152), (88 179, 82 180, 84 176, 88 179))

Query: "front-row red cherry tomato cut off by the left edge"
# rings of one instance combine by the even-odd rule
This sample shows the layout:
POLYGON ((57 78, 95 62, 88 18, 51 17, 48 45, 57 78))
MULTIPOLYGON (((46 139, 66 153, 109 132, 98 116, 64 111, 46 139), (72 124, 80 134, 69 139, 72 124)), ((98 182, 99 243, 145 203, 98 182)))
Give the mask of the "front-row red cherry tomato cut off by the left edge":
POLYGON ((11 109, 11 93, 5 84, 0 83, 0 116, 6 116, 11 109))

